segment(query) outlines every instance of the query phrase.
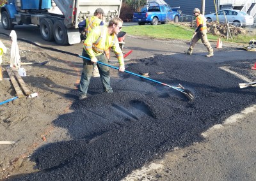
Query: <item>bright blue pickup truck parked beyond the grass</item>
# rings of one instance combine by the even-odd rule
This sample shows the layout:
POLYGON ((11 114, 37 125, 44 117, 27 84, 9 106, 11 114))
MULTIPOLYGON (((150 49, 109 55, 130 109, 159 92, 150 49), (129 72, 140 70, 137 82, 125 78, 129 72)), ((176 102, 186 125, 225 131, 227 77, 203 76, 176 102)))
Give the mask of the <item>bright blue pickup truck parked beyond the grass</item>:
POLYGON ((139 25, 150 23, 157 25, 159 22, 165 24, 168 21, 179 22, 180 11, 172 8, 168 4, 161 4, 159 6, 150 6, 148 10, 133 13, 133 22, 138 22, 139 25))

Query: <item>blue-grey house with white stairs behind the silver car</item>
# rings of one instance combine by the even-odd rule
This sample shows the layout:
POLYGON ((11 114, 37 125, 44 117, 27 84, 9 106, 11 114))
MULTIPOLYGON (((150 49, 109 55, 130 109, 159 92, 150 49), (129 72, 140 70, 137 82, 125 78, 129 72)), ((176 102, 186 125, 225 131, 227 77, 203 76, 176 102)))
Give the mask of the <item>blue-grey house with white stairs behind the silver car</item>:
MULTIPOLYGON (((201 0, 164 0, 166 3, 170 4, 172 8, 180 6, 182 13, 187 15, 193 15, 194 8, 199 8, 202 10, 201 0)), ((214 13, 215 6, 213 0, 205 1, 205 14, 214 13)), ((256 0, 215 0, 217 11, 223 9, 234 9, 241 10, 249 15, 255 17, 256 15, 256 0)))

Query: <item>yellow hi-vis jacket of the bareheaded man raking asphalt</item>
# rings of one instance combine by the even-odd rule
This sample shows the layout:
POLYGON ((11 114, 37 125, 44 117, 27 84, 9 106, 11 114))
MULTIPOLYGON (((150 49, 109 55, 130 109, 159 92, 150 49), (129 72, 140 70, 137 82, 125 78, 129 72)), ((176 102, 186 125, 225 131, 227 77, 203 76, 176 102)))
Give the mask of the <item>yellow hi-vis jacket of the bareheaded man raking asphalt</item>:
POLYGON ((109 48, 115 53, 120 66, 124 66, 124 56, 119 47, 118 38, 115 33, 108 33, 108 27, 104 25, 94 27, 84 41, 84 50, 86 50, 91 59, 92 57, 103 54, 109 48))

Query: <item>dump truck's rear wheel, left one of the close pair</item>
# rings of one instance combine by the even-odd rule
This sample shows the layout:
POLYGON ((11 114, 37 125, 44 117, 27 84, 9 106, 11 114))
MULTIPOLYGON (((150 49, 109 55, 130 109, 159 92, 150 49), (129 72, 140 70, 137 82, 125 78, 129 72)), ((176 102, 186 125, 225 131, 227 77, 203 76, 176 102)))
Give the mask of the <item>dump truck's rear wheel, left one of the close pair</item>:
POLYGON ((53 40, 53 23, 49 18, 44 18, 40 22, 40 33, 44 40, 52 41, 53 40))

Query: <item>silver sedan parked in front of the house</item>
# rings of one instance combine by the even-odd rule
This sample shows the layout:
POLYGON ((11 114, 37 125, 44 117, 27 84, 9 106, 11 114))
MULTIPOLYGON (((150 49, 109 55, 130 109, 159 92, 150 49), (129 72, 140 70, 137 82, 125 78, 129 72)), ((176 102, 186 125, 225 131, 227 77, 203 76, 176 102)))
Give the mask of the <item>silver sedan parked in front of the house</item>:
MULTIPOLYGON (((225 16, 227 18, 227 22, 231 22, 235 26, 246 26, 253 25, 253 17, 248 15, 244 11, 239 10, 221 10, 218 11, 218 19, 219 22, 226 22, 225 16), (225 13, 225 15, 224 15, 225 13)), ((208 22, 216 21, 217 16, 216 13, 205 15, 208 22)))

